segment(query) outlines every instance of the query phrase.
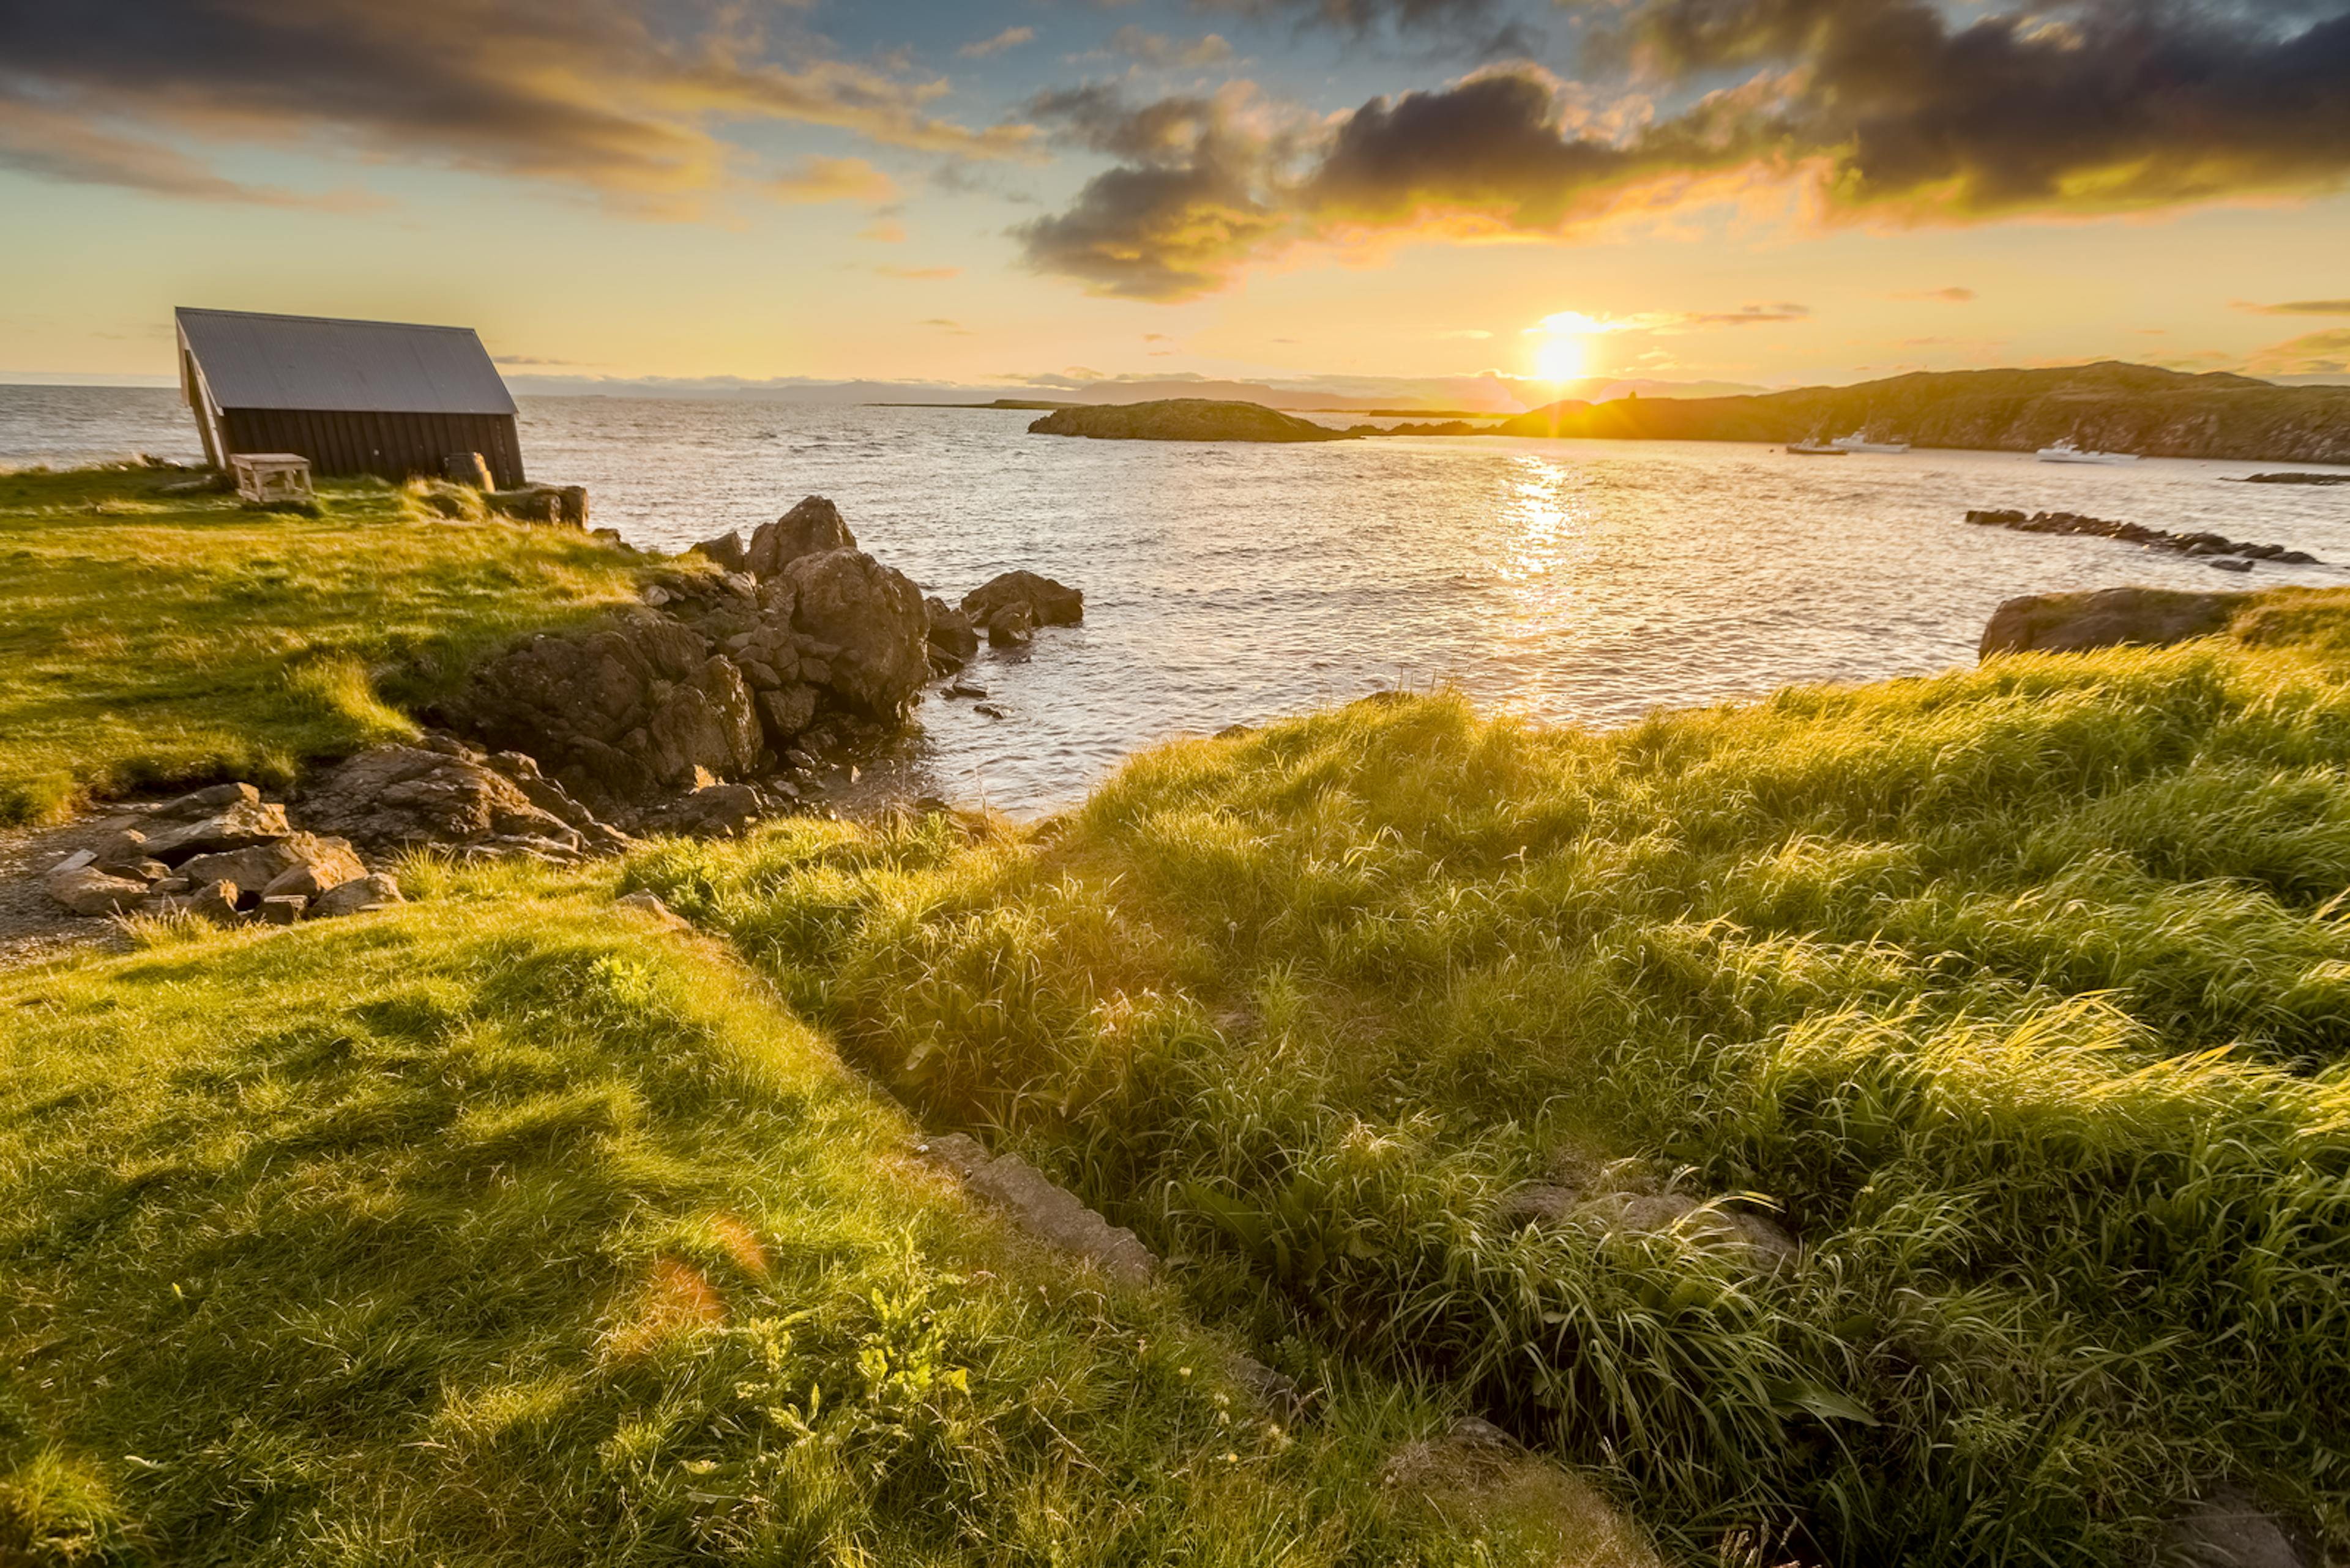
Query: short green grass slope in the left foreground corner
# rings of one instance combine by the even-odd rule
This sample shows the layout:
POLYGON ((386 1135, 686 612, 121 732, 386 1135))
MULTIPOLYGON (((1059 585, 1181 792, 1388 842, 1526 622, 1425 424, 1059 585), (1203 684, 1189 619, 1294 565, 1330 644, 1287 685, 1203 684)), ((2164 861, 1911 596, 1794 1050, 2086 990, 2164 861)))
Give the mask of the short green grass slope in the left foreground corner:
POLYGON ((1448 1410, 1394 1382, 1335 1368, 1283 1432, 1168 1291, 975 1213, 609 884, 409 879, 0 978, 0 1561, 1471 1568, 1617 1528, 1405 1502, 1448 1410))

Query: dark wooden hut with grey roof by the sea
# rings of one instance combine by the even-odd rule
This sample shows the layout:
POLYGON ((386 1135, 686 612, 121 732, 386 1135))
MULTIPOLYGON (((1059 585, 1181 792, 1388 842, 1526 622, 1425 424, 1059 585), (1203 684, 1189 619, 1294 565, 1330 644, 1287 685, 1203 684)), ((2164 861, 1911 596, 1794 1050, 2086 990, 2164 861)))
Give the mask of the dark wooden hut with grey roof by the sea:
POLYGON ((179 383, 204 456, 296 454, 317 475, 442 475, 482 454, 524 482, 515 397, 470 327, 176 310, 179 383))

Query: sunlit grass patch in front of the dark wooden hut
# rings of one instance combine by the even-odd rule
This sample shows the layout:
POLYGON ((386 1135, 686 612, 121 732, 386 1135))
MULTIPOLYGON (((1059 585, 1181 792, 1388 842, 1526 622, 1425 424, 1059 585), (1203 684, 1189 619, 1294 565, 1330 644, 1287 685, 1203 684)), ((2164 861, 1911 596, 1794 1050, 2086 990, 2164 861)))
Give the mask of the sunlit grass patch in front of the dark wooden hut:
POLYGON ((414 733, 472 654, 616 604, 642 571, 383 484, 324 484, 301 517, 160 494, 181 477, 0 475, 0 825, 139 788, 284 788, 414 733))

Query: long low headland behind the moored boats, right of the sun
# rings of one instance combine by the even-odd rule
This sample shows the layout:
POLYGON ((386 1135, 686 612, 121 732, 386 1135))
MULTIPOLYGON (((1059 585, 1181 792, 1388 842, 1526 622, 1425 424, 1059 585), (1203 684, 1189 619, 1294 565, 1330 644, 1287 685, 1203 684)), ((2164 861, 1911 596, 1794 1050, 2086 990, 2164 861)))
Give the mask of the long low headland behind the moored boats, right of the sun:
POLYGON ((2063 437, 2103 451, 2263 463, 2350 463, 2350 386, 2075 364, 1918 371, 1755 397, 1558 402, 1495 435, 1800 442, 1866 430, 1918 447, 2035 451, 2063 437))

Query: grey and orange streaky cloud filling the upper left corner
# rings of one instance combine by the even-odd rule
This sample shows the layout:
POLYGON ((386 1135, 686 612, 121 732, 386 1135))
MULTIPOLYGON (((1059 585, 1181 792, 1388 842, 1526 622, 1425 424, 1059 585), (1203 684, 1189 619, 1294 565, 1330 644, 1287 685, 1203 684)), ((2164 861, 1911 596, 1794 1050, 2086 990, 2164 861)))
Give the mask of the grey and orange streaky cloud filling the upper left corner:
MULTIPOLYGON (((275 146, 555 181, 677 214, 738 181, 728 122, 799 122, 961 158, 1022 155, 1020 125, 931 113, 945 82, 768 38, 740 7, 653 0, 78 0, 0 9, 0 106, 106 125, 52 179, 249 200, 169 172, 188 143, 275 146), (682 14, 705 16, 682 26, 682 14)), ((28 167, 16 158, 16 167, 28 167)), ((785 176, 790 179, 790 176, 785 176)), ((750 183, 757 183, 754 179, 750 183)))

